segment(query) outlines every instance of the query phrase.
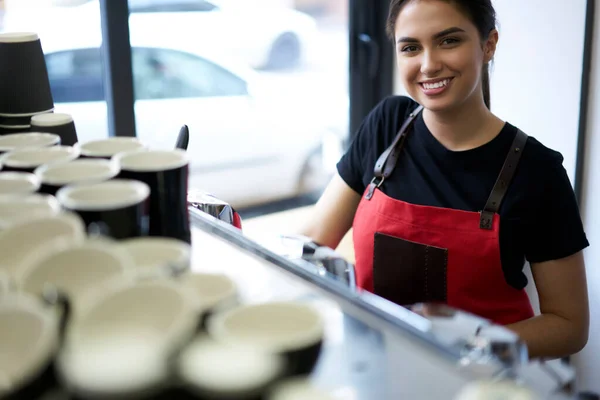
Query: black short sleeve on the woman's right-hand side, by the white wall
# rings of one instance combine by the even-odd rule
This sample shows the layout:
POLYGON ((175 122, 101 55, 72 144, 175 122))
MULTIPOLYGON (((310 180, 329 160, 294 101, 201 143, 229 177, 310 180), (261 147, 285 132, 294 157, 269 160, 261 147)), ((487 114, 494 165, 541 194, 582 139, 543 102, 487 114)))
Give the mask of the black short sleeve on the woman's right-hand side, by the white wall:
POLYGON ((522 237, 529 262, 558 260, 589 246, 567 171, 558 156, 545 171, 533 218, 522 237))

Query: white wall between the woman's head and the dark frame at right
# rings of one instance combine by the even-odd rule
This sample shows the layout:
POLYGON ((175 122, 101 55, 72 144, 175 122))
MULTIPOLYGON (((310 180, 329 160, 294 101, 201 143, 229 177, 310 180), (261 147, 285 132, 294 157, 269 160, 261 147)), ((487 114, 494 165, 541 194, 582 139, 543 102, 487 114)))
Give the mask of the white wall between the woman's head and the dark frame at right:
POLYGON ((586 0, 495 0, 492 109, 560 151, 575 176, 586 0))

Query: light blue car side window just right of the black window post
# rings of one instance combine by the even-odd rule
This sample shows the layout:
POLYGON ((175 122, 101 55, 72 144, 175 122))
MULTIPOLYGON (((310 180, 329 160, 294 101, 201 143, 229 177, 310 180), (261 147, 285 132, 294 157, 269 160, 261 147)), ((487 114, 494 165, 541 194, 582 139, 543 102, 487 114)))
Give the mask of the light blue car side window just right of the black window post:
POLYGON ((243 79, 193 54, 134 48, 132 62, 137 100, 248 94, 243 79))

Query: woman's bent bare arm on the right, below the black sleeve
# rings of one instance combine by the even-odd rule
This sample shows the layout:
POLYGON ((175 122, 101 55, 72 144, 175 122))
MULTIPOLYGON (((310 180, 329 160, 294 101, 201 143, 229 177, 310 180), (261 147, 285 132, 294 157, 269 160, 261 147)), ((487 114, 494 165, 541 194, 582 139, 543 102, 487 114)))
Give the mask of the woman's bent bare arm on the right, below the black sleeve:
POLYGON ((579 352, 586 345, 589 332, 583 253, 535 263, 531 270, 541 315, 507 328, 525 341, 531 358, 560 358, 579 352))

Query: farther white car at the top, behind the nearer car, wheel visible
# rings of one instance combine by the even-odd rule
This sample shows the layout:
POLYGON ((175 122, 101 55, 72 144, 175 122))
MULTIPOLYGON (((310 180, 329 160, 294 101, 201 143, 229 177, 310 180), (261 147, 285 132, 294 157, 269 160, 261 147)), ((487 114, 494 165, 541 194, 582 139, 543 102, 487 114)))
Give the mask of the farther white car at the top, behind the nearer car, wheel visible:
MULTIPOLYGON (((32 0, 23 0, 32 1, 32 0)), ((98 0, 47 0, 45 7, 9 8, 4 30, 65 35, 100 31, 98 0)), ((250 0, 129 0, 130 20, 152 21, 157 32, 178 30, 190 40, 231 52, 253 68, 290 68, 309 57, 318 40, 311 16, 250 0)), ((149 23, 149 22, 147 22, 149 23)))

